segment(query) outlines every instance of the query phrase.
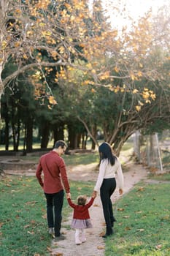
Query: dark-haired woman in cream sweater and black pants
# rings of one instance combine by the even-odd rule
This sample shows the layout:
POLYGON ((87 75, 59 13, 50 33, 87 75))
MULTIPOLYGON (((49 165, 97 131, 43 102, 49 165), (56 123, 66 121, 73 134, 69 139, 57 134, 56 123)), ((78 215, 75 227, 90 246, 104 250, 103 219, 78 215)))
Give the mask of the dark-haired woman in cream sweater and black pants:
POLYGON ((123 172, 119 160, 112 152, 112 148, 109 143, 102 143, 98 148, 100 154, 100 166, 98 179, 94 192, 100 192, 101 203, 104 211, 104 219, 106 222, 107 230, 104 238, 111 236, 113 233, 113 225, 115 217, 112 211, 111 195, 116 189, 115 174, 117 173, 117 181, 119 185, 119 194, 123 194, 123 172))

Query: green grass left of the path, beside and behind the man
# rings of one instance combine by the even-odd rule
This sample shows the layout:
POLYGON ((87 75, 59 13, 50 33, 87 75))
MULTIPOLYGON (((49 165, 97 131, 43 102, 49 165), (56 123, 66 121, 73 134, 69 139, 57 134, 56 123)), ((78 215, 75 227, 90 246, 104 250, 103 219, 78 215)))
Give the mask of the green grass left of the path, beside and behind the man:
MULTIPOLYGON (((71 182, 72 197, 91 195, 92 183, 71 182)), ((0 180, 0 255, 49 255, 45 196, 35 177, 7 176, 0 180)), ((66 199, 63 220, 72 209, 66 199)))

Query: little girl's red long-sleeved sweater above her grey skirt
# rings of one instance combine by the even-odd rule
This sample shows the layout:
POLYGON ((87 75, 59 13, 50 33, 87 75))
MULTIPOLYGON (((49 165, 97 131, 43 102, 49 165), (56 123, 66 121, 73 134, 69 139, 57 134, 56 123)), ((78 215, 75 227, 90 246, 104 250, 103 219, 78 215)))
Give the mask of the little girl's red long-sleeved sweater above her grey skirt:
POLYGON ((91 197, 90 201, 85 206, 78 206, 72 203, 70 198, 67 199, 69 205, 74 208, 73 219, 90 219, 88 208, 93 204, 94 198, 91 197))

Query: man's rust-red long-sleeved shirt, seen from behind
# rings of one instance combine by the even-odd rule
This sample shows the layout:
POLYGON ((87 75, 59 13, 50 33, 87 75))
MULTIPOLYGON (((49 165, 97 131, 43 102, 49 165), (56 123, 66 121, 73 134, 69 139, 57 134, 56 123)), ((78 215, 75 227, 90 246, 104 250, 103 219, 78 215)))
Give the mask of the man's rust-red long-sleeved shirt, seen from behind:
POLYGON ((36 178, 47 194, 59 192, 63 187, 66 193, 70 192, 65 162, 55 151, 42 155, 36 168, 36 178))

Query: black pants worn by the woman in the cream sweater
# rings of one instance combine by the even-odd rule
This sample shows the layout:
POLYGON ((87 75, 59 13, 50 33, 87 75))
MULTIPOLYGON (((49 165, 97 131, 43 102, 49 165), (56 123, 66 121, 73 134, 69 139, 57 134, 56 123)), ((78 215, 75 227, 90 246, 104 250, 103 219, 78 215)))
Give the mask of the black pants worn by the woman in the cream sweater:
POLYGON ((104 211, 104 219, 107 227, 112 227, 113 222, 115 222, 115 217, 113 216, 112 201, 110 199, 111 195, 115 191, 116 180, 115 178, 104 178, 101 185, 101 203, 104 211))

